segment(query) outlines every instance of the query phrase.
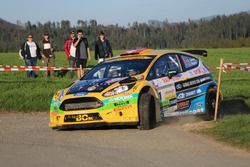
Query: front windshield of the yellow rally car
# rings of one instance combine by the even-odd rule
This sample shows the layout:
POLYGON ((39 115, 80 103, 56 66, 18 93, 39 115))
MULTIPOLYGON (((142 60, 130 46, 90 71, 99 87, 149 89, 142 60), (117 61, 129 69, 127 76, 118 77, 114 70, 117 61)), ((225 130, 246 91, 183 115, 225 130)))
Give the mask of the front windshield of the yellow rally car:
POLYGON ((81 80, 122 78, 143 73, 152 58, 105 62, 92 68, 81 80))

